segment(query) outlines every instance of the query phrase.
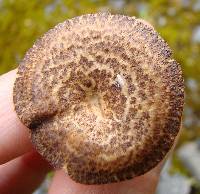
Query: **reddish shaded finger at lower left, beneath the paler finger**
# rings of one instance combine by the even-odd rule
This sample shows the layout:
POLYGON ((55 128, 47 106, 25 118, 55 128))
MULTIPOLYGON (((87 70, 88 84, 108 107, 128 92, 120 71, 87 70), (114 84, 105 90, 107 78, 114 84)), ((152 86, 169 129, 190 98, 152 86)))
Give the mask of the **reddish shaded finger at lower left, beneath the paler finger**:
POLYGON ((50 170, 49 164, 36 151, 26 153, 0 165, 0 193, 33 193, 50 170))

